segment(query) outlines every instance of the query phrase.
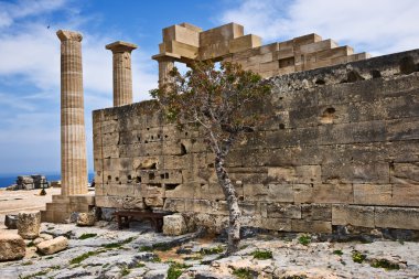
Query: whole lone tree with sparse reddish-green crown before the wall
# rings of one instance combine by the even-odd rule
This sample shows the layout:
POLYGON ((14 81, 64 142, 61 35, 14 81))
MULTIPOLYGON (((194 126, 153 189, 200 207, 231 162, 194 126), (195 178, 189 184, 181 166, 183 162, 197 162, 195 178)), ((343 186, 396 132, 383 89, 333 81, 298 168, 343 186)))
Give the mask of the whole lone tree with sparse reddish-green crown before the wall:
POLYGON ((184 75, 174 68, 171 77, 150 94, 159 100, 168 120, 180 127, 202 127, 215 154, 215 171, 228 205, 227 254, 235 253, 240 242, 240 208, 225 160, 235 142, 262 120, 257 104, 271 86, 260 75, 230 63, 222 63, 219 68, 196 63, 184 75))

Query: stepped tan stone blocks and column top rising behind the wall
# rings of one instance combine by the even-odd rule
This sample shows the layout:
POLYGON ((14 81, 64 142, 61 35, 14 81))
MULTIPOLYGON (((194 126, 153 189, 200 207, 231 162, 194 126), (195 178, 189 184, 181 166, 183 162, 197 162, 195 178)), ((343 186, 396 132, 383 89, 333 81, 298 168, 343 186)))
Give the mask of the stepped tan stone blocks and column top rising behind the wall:
POLYGON ((339 46, 331 39, 308 34, 279 43, 261 45, 261 37, 244 34, 244 26, 228 23, 203 31, 189 23, 163 29, 159 62, 159 78, 164 82, 173 62, 226 61, 240 64, 262 77, 326 67, 365 60, 367 53, 354 54, 351 46, 339 46))

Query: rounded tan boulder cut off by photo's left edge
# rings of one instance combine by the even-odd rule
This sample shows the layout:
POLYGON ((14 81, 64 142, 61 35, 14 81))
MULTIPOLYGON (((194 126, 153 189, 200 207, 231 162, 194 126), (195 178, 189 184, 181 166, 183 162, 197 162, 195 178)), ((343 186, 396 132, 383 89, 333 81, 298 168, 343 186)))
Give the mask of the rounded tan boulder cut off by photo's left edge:
POLYGON ((0 261, 21 259, 25 253, 26 246, 20 235, 4 232, 0 234, 0 261))

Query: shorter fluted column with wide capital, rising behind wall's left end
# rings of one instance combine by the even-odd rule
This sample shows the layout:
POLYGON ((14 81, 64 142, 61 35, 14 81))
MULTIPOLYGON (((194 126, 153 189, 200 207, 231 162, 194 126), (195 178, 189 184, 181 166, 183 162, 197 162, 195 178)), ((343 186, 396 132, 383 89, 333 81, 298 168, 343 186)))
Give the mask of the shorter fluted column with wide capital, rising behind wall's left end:
POLYGON ((106 45, 114 54, 114 107, 132 104, 131 52, 136 49, 121 41, 106 45))

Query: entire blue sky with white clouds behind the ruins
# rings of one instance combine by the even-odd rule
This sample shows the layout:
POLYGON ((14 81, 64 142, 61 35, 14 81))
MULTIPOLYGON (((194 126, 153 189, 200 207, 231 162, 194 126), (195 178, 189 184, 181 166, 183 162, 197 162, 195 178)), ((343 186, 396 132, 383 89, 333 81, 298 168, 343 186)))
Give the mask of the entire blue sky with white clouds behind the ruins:
POLYGON ((60 41, 56 30, 83 33, 89 171, 92 110, 111 106, 111 53, 128 41, 135 101, 157 86, 161 30, 189 22, 228 22, 264 43, 315 32, 382 55, 419 47, 417 0, 0 0, 0 174, 60 171, 60 41), (50 28, 47 28, 50 26, 50 28))

